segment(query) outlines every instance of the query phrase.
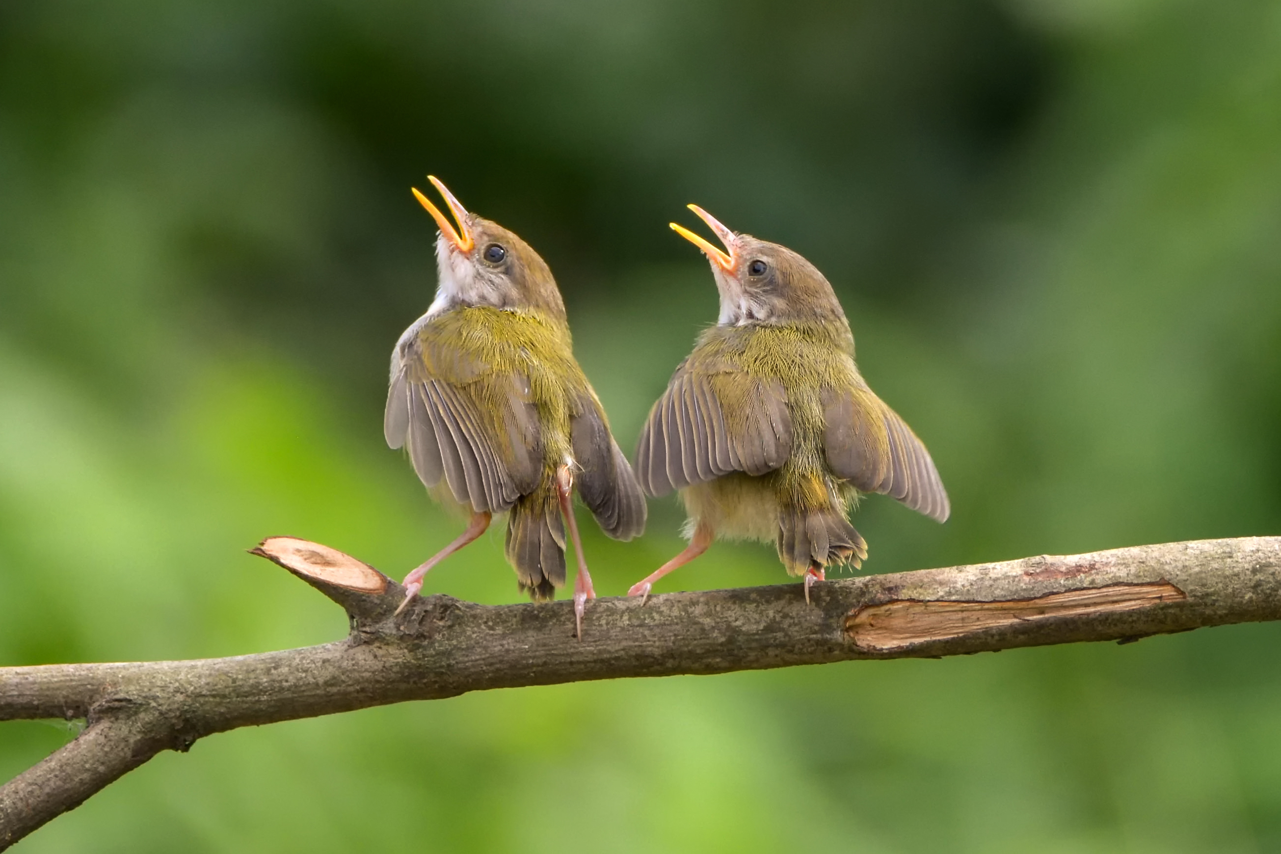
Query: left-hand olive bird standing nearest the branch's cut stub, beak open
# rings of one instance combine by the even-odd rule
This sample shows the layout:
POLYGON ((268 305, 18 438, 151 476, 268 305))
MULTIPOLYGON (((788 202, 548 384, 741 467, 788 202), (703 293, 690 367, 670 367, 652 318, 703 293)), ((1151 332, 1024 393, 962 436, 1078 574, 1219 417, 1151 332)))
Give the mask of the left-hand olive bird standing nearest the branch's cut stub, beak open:
POLYGON ((596 597, 574 521, 573 489, 615 539, 644 530, 646 502, 574 360, 565 305, 547 264, 514 233, 468 210, 434 177, 457 230, 427 196, 439 236, 436 298, 392 351, 383 428, 406 447, 441 502, 470 513, 466 530, 405 577, 423 576, 507 516, 507 560, 520 589, 551 599, 565 584, 565 526, 578 557, 574 618, 596 597))

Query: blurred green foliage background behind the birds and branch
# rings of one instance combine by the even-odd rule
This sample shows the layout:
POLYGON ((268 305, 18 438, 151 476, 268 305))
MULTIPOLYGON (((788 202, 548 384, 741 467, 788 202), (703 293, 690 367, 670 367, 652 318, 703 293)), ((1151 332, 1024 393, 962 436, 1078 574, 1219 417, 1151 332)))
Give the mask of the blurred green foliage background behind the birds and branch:
MULTIPOLYGON (((452 539, 382 440, 441 175, 551 264, 630 448, 697 201, 828 273, 929 443, 865 570, 1281 533, 1281 4, 0 5, 0 663, 341 638, 245 554, 452 539)), ((674 502, 597 589, 680 547, 674 502)), ((717 544, 662 589, 781 583, 717 544)), ((501 533, 427 592, 518 600, 501 533)), ((494 691, 167 753, 29 851, 1272 851, 1281 626, 494 691)), ((0 726, 0 777, 65 743, 0 726)))

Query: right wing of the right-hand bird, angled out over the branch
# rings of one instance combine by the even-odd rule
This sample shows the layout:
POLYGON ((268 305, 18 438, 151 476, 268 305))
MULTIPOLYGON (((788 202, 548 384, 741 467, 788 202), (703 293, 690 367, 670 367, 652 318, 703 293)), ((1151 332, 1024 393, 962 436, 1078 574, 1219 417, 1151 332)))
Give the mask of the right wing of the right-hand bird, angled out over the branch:
POLYGON ((952 507, 939 470, 894 410, 866 385, 829 389, 822 408, 824 453, 838 478, 947 521, 952 507))

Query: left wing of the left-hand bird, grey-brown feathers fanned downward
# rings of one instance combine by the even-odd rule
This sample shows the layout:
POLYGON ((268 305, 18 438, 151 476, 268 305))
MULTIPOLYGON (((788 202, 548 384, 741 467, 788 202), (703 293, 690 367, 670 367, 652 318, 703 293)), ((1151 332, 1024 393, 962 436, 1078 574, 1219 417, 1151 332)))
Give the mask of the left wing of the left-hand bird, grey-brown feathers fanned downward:
POLYGON ((459 503, 475 512, 509 510, 542 476, 529 380, 489 373, 457 350, 433 350, 412 342, 392 376, 383 416, 387 444, 409 447, 427 487, 443 476, 459 503))

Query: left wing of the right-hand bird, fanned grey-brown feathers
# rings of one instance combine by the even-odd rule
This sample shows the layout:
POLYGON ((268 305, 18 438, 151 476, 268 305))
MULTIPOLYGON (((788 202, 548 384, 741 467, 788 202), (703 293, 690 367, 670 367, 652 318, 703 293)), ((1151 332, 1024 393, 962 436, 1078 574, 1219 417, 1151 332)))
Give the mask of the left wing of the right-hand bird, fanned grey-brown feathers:
POLYGON ((778 380, 720 364, 694 370, 687 359, 649 411, 637 448, 637 475, 651 495, 731 471, 763 475, 792 453, 792 415, 778 380))

